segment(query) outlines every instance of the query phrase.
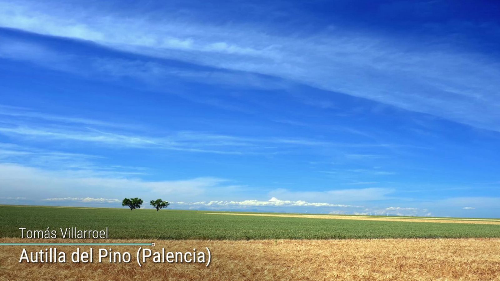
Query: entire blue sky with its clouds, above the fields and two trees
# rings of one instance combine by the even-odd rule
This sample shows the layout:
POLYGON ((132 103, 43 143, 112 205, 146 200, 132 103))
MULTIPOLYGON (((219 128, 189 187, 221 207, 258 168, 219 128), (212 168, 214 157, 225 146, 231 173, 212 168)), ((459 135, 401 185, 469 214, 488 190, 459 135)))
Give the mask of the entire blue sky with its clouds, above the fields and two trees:
POLYGON ((0 203, 500 217, 499 21, 477 0, 0 0, 0 203))

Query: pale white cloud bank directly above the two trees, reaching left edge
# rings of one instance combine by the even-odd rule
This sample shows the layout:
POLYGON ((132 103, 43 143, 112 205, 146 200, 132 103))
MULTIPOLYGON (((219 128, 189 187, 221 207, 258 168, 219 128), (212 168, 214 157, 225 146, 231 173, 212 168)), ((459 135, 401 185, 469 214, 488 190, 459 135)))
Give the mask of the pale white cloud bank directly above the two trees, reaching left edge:
POLYGON ((0 163, 0 192, 6 197, 30 194, 32 198, 115 198, 136 194, 135 196, 166 196, 185 200, 200 196, 209 198, 224 192, 236 194, 240 188, 242 186, 231 184, 226 179, 210 176, 154 181, 130 177, 119 171, 102 173, 91 169, 48 170, 0 163))

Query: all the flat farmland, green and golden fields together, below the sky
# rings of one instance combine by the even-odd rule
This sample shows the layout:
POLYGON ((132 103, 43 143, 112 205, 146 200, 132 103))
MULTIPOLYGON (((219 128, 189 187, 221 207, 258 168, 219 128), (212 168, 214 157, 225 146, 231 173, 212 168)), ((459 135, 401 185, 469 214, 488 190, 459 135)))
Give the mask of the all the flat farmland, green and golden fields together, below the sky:
MULTIPOLYGON (((500 280, 500 220, 126 208, 0 206, 0 242, 155 242, 209 247, 204 264, 19 263, 0 247, 0 280, 500 280), (27 229, 100 230, 109 239, 20 239, 27 229), (376 239, 374 239, 376 238, 376 239)), ((46 246, 45 246, 46 247, 46 246)), ((98 247, 98 246, 96 246, 98 247)), ((88 248, 81 246, 82 250, 88 248)), ((135 252, 137 246, 113 246, 135 252)), ((74 246, 57 246, 70 252, 74 246)))

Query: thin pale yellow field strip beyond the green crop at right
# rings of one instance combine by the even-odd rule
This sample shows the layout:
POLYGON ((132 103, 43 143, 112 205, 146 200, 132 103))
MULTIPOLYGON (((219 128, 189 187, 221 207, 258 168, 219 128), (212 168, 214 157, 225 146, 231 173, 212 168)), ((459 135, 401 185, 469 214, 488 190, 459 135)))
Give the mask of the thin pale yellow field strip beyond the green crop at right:
POLYGON ((202 212, 204 214, 227 214, 227 215, 256 215, 277 217, 306 217, 322 219, 358 219, 358 220, 384 220, 384 221, 413 221, 413 222, 449 222, 449 223, 477 223, 477 224, 500 224, 500 220, 482 218, 438 218, 438 217, 385 217, 385 216, 358 216, 358 215, 314 215, 314 214, 272 214, 272 213, 234 213, 234 212, 202 212))

